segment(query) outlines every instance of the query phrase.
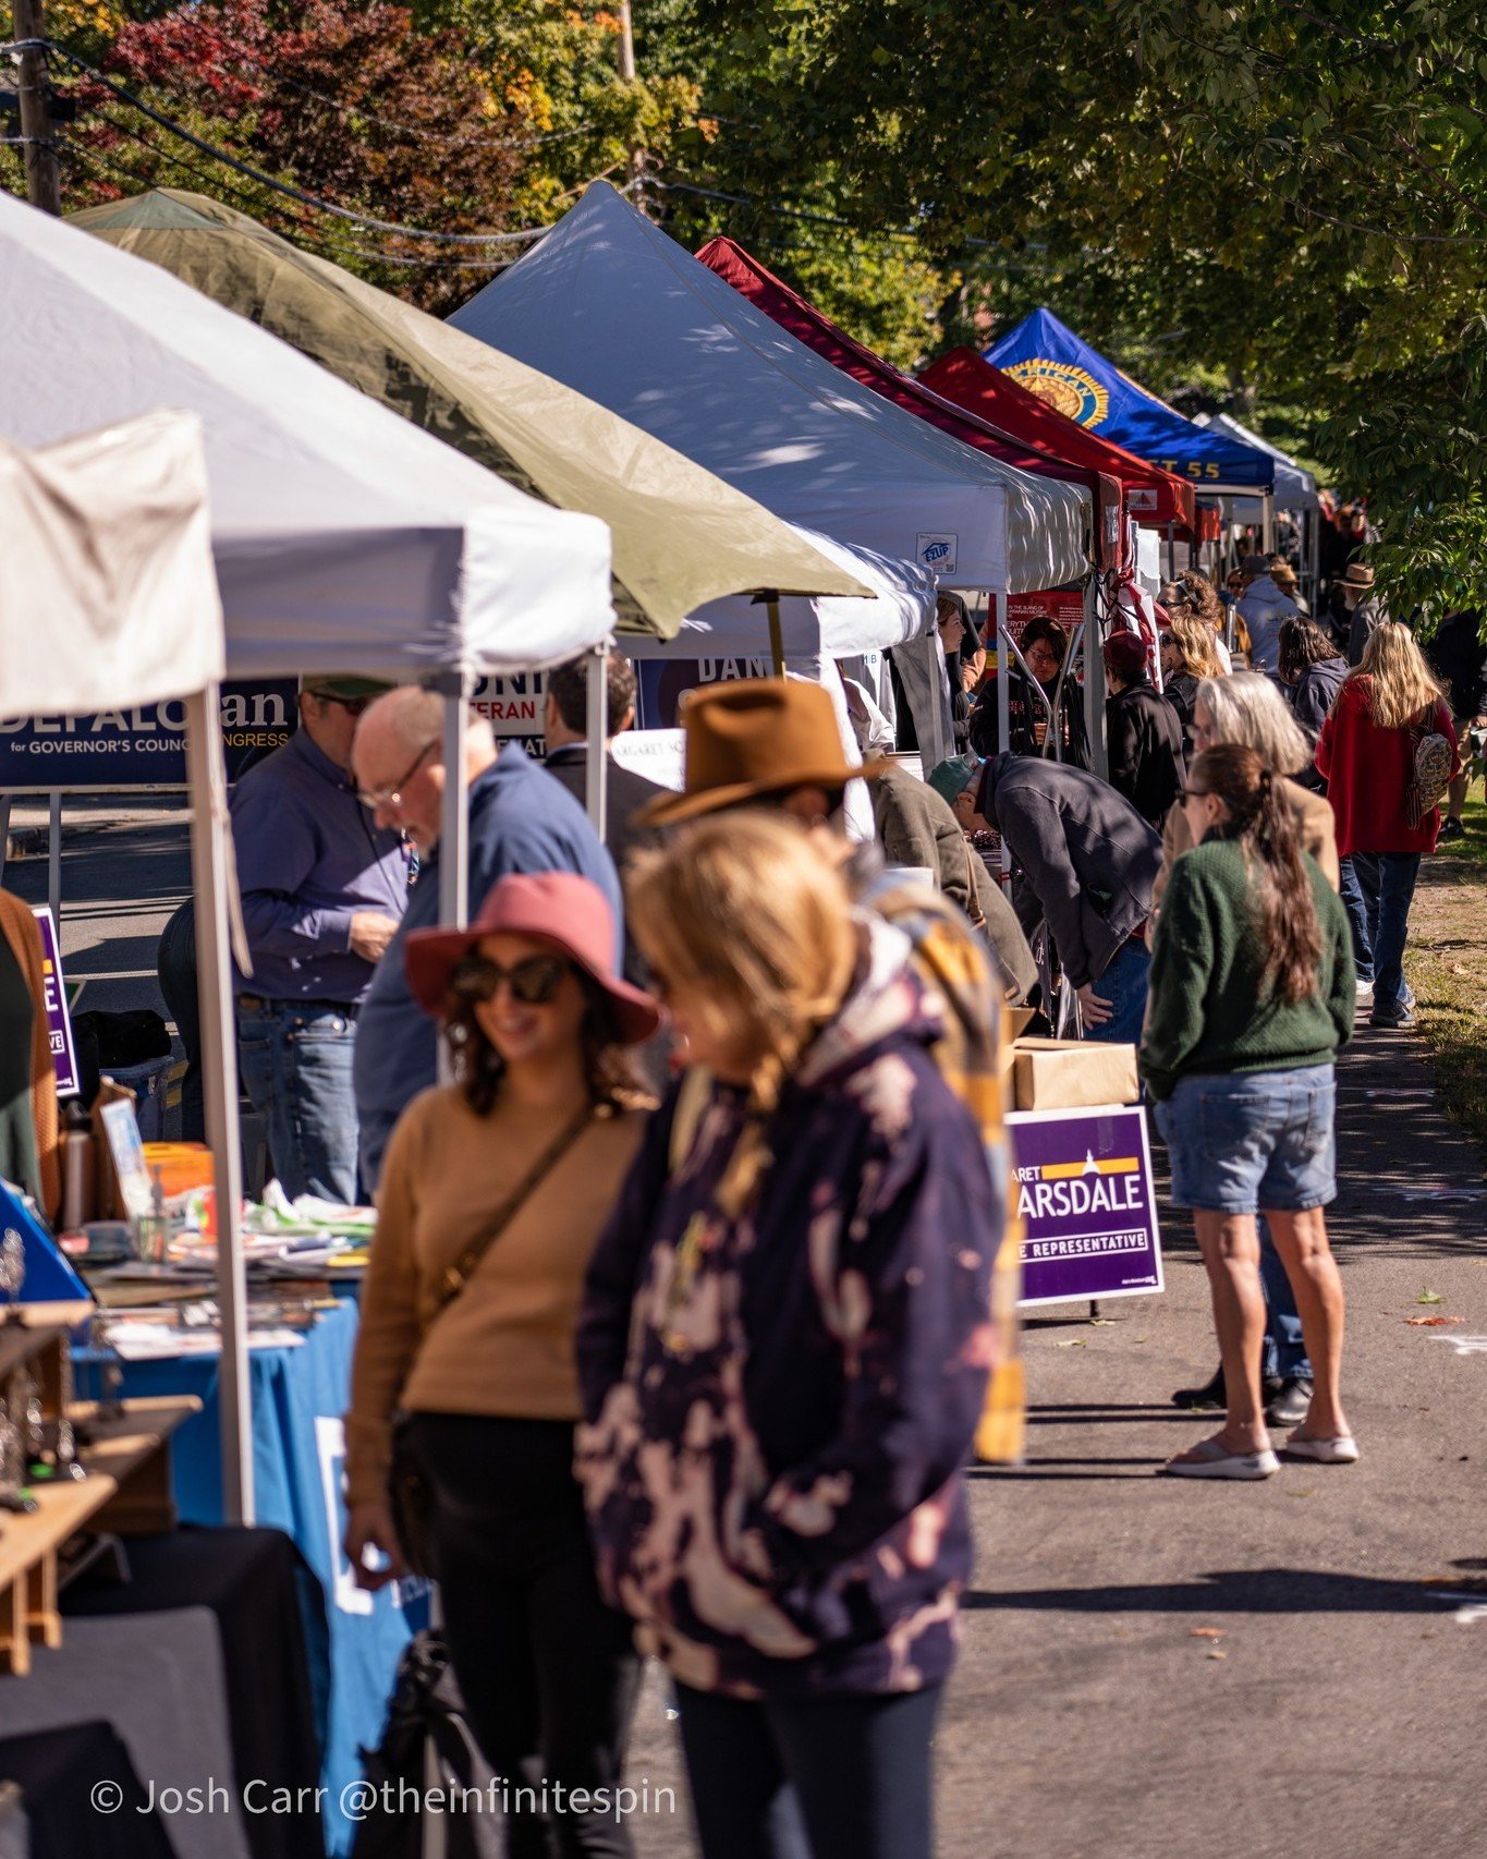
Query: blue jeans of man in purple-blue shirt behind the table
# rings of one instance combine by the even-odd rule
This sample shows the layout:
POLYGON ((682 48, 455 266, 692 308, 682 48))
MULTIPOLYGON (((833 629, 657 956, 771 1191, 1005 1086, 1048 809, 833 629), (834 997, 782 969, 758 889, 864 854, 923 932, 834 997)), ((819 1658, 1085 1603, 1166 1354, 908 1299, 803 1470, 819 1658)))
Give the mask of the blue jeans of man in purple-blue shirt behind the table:
POLYGON ((273 1173, 290 1199, 357 1201, 355 1037, 355 1017, 331 1000, 238 1006, 243 1089, 268 1123, 273 1173))

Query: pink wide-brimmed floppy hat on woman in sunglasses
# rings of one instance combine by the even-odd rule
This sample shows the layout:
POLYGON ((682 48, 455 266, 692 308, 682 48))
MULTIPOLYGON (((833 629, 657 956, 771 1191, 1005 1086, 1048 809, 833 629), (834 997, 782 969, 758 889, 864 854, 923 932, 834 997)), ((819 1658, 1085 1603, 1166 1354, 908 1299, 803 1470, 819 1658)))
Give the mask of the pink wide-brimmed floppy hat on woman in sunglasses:
POLYGON ((517 872, 498 877, 468 930, 413 930, 403 967, 413 998, 433 1019, 450 1009, 450 976, 487 935, 530 935, 550 943, 613 1002, 625 1045, 643 1045, 660 1026, 651 995, 615 974, 615 918, 610 900, 576 872, 517 872))

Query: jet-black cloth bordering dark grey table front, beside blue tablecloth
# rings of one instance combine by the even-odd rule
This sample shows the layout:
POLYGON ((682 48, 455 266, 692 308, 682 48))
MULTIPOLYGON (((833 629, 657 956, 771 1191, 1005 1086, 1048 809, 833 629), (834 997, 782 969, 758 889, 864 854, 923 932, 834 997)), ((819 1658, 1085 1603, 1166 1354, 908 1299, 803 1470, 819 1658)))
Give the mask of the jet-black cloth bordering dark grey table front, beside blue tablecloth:
MULTIPOLYGON (((162 1634, 184 1608, 216 1615, 238 1794, 262 1807, 290 1790, 314 1801, 327 1697, 327 1627, 320 1582, 279 1530, 177 1530, 126 1545, 125 1586, 78 1582, 61 1612, 74 1619, 154 1615, 162 1634), (303 1790, 303 1792, 301 1792, 303 1790)), ((71 1630, 71 1628, 65 1628, 71 1630)), ((255 1859, 323 1859, 320 1814, 234 1816, 255 1859)))

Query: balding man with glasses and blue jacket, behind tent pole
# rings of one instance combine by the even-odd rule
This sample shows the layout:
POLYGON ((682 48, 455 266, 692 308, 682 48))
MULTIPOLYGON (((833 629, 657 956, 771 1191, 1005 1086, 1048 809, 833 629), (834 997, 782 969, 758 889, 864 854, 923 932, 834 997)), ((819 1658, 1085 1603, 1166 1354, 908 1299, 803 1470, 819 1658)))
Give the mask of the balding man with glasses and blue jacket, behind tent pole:
MULTIPOLYGON (((379 699, 361 719, 351 768, 375 824, 403 833, 420 859, 401 928, 377 963, 357 1024, 353 1082, 361 1173, 370 1192, 392 1125, 439 1071, 435 1026, 415 1004, 403 972, 403 937, 439 922, 439 824, 448 777, 444 699, 416 688, 379 699)), ((491 725, 478 714, 467 732, 465 784, 472 909, 507 872, 578 872, 610 900, 623 941, 619 879, 589 816, 520 744, 507 744, 496 755, 491 725)))

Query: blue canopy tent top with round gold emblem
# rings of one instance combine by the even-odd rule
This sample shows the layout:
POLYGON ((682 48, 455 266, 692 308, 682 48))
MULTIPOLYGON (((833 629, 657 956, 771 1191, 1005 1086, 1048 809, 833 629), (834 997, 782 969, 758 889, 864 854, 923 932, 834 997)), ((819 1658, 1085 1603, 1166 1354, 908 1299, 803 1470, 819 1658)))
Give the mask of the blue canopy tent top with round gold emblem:
POLYGON ((1253 491, 1268 491, 1275 480, 1275 461, 1266 452, 1184 420, 1177 407, 1082 342, 1052 310, 1024 316, 985 357, 1078 426, 1178 478, 1253 491))

